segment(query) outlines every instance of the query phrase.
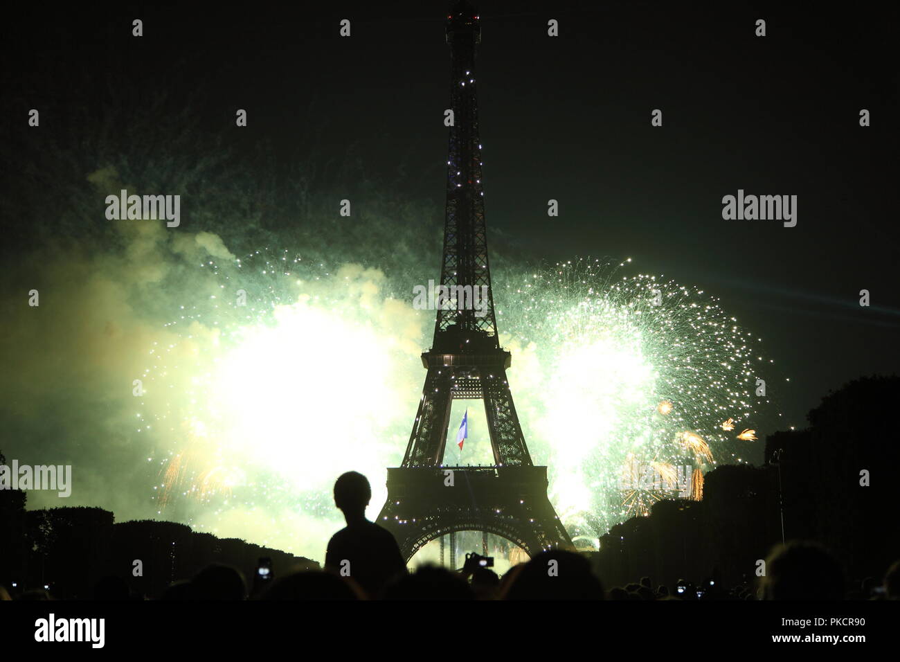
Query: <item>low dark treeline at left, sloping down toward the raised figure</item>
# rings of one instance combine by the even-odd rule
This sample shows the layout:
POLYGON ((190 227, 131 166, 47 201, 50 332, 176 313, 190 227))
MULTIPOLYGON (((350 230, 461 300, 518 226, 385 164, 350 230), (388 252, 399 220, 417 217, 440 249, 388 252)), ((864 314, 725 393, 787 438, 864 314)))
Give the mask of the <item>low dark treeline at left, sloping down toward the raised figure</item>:
POLYGON ((309 558, 220 539, 170 521, 114 523, 102 508, 26 511, 25 494, 0 491, 0 585, 48 587, 55 598, 91 598, 106 576, 120 576, 139 594, 159 597, 166 586, 211 563, 237 567, 249 581, 260 557, 272 559, 275 576, 318 568, 309 558))

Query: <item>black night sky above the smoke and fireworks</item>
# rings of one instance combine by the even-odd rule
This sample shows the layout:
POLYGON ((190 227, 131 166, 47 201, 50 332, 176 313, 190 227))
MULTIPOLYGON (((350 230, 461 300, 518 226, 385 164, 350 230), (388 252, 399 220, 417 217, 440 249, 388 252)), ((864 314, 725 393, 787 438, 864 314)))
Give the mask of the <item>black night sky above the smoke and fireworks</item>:
MULTIPOLYGON (((803 425, 822 395, 851 378, 897 371, 896 7, 482 5, 489 233, 515 238, 535 259, 631 257, 645 272, 721 297, 791 377, 778 392, 788 422, 803 425), (560 22, 555 39, 546 36, 551 18, 560 22), (758 18, 765 38, 754 36, 758 18), (650 124, 654 108, 662 128, 650 124), (722 196, 739 188, 797 195, 797 227, 723 220, 722 196), (550 198, 559 218, 546 215, 550 198), (871 307, 858 304, 860 289, 871 307)), ((246 108, 247 130, 229 140, 271 141, 280 159, 311 134, 324 152, 356 143, 368 168, 392 171, 398 193, 433 198, 440 213, 444 9, 24 10, 4 21, 14 99, 4 122, 26 97, 65 106, 58 89, 35 83, 52 80, 65 60, 85 85, 128 77, 139 86, 136 104, 199 90, 195 112, 223 135, 234 136, 234 109, 246 108), (140 39, 130 36, 135 17, 140 39), (349 39, 338 37, 343 18, 349 39)))

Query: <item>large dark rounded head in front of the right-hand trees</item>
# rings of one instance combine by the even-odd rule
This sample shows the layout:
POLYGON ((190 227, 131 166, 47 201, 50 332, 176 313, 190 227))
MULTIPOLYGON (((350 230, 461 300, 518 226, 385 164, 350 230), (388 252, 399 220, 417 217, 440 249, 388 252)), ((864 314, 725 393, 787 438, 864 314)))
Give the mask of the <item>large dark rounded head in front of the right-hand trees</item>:
POLYGON ((767 600, 843 600, 841 564, 813 542, 791 541, 766 560, 767 600))

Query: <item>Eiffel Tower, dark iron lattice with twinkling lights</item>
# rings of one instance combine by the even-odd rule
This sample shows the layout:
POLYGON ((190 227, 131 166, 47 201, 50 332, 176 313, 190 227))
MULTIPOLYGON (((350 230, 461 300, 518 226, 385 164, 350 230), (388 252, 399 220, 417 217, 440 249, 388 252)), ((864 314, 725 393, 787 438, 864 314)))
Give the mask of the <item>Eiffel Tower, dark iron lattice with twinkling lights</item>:
POLYGON ((453 122, 440 281, 451 296, 447 305, 437 305, 434 340, 422 354, 428 375, 419 412, 401 467, 388 469, 388 497, 377 520, 407 560, 429 540, 456 531, 497 534, 530 556, 555 547, 573 549, 547 498, 547 467, 535 467, 528 455, 506 378, 511 355, 497 337, 475 94, 481 39, 473 5, 451 3, 446 40, 453 122), (468 287, 486 294, 481 305, 465 301, 468 287), (444 466, 450 407, 457 398, 483 401, 492 466, 444 466))

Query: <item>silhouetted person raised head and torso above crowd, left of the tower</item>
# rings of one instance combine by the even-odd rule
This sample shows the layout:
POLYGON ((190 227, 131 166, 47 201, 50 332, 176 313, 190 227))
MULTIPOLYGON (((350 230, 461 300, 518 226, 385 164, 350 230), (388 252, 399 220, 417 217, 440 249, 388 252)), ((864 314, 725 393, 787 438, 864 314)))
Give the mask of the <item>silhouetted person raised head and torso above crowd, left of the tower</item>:
POLYGON ((406 573, 406 563, 391 532, 365 519, 371 499, 369 481, 356 471, 335 482, 335 505, 344 512, 347 527, 329 540, 325 568, 352 577, 366 594, 377 597, 394 576, 406 573))

